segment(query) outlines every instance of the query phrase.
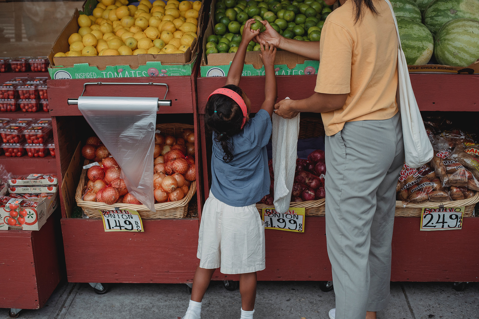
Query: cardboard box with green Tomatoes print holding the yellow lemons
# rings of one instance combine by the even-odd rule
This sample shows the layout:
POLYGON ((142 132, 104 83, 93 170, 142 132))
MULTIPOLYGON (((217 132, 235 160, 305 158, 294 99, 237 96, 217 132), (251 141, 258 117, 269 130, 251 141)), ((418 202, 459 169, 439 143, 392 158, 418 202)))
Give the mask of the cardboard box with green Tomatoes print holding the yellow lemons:
MULTIPOLYGON (((75 9, 70 22, 53 44, 48 59, 48 72, 52 79, 63 78, 108 78, 108 77, 158 77, 189 76, 198 55, 198 39, 194 39, 191 48, 183 54, 168 55, 108 55, 108 56, 57 56, 58 52, 69 50, 68 37, 78 32, 80 14, 91 14, 96 0, 83 4, 83 12, 75 9)), ((197 34, 202 32, 204 5, 199 11, 197 34)))

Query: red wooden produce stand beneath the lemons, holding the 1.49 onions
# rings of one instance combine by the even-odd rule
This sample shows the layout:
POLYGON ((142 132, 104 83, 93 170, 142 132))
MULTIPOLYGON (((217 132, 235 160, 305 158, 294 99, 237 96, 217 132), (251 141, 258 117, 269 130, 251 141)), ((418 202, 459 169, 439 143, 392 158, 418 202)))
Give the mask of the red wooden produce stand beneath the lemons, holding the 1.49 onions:
MULTIPOLYGON (((104 283, 187 283, 191 282, 196 268, 198 219, 143 219, 145 232, 105 232, 101 219, 70 218, 75 203, 75 191, 80 169, 73 174, 68 165, 80 160, 74 155, 77 145, 93 132, 78 106, 67 105, 67 99, 78 98, 86 82, 154 82, 168 84, 166 99, 171 107, 160 107, 157 122, 194 124, 196 147, 196 194, 198 213, 204 202, 200 155, 200 135, 196 109, 195 77, 198 63, 191 76, 135 77, 102 79, 68 79, 48 81, 50 114, 54 127, 57 168, 61 172, 62 191, 61 228, 65 248, 69 282, 103 283, 97 291, 106 291, 104 283), (72 160, 73 159, 73 160, 72 160), (121 256, 121 258, 119 257, 121 256)), ((87 87, 84 96, 159 97, 163 99, 166 88, 162 86, 96 86, 87 87)), ((84 143, 83 143, 84 144, 84 143)), ((82 160, 81 160, 82 161, 82 160)), ((81 162, 82 163, 82 162, 81 162)), ((194 198, 193 198, 194 199, 194 198)))

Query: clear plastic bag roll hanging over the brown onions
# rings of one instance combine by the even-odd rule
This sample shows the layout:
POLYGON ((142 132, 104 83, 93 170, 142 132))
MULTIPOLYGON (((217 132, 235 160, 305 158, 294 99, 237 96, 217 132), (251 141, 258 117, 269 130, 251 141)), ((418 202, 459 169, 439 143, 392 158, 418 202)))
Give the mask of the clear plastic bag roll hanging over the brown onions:
POLYGON ((78 98, 78 109, 120 166, 128 192, 152 211, 157 108, 158 98, 78 98))

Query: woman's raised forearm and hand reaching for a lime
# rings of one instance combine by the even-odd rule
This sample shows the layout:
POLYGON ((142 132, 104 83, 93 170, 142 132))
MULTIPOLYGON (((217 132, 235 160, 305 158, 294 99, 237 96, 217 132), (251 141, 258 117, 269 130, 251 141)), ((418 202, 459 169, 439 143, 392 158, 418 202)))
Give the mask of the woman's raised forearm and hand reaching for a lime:
POLYGON ((262 24, 266 27, 266 31, 259 33, 253 41, 262 44, 268 42, 282 50, 302 55, 311 60, 319 61, 319 41, 299 41, 288 39, 277 33, 267 21, 262 21, 262 24))

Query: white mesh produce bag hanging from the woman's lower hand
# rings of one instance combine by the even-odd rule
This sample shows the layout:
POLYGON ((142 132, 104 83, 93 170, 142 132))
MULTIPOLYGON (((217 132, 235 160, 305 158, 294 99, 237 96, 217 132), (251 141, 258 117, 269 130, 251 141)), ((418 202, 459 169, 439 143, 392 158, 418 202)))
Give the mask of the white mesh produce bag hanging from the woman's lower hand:
POLYGON ((287 212, 291 202, 298 134, 299 114, 293 119, 283 119, 273 113, 274 208, 278 213, 287 212))

